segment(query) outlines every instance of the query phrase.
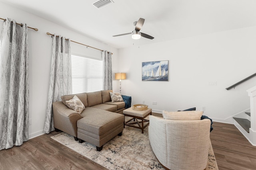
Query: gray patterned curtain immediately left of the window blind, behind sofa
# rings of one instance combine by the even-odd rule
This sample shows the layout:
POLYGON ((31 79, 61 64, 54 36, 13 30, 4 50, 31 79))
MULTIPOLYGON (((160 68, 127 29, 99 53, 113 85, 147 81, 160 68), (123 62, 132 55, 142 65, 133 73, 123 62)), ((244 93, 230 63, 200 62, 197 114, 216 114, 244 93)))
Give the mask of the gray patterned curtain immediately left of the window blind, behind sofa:
POLYGON ((60 37, 55 34, 52 37, 52 64, 44 133, 54 131, 52 102, 61 101, 61 96, 72 94, 70 39, 60 37))

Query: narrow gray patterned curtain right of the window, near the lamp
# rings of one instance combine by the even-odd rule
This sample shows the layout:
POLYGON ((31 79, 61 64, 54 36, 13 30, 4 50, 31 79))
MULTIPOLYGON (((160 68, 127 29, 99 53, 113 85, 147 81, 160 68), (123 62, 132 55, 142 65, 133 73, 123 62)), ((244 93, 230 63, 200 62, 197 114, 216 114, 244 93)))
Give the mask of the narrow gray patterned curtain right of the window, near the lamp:
POLYGON ((102 63, 103 63, 103 90, 112 90, 112 55, 111 52, 101 52, 102 63))

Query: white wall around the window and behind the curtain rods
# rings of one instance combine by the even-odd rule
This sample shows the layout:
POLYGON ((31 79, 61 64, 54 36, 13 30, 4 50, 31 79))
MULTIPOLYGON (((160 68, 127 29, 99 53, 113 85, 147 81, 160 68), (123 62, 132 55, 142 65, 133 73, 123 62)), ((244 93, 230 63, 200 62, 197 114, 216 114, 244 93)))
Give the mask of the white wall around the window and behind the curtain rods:
MULTIPOLYGON (((52 55, 52 38, 46 32, 62 35, 73 41, 84 43, 98 49, 104 49, 114 53, 112 56, 113 68, 117 67, 118 51, 102 42, 78 34, 70 29, 56 25, 50 21, 39 18, 22 10, 0 2, 0 18, 11 18, 18 23, 27 23, 29 27, 36 27, 39 31, 28 29, 29 48, 29 118, 32 125, 29 126, 29 137, 36 137, 43 133, 46 108, 48 103, 48 88, 50 79, 50 64, 52 55)), ((3 20, 0 20, 0 31, 2 31, 3 20)), ((85 28, 86 29, 86 28, 85 28)), ((90 57, 101 57, 101 52, 85 46, 71 43, 72 53, 87 55, 90 57)))

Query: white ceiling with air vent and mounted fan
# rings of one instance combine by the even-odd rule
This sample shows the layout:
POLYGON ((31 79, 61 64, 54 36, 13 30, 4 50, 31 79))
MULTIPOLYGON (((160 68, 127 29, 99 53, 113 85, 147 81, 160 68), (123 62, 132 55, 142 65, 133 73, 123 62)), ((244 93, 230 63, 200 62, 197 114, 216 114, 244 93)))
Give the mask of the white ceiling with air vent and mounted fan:
POLYGON ((100 9, 93 5, 98 0, 0 1, 116 48, 256 25, 256 0, 114 0, 100 9), (112 37, 132 32, 139 18, 153 40, 112 37))

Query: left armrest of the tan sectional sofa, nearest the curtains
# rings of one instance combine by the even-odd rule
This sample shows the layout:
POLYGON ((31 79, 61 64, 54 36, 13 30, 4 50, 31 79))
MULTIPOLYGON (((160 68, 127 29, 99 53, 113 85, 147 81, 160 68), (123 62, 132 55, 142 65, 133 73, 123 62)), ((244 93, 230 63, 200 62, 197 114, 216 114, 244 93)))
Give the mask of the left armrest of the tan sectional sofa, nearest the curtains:
POLYGON ((77 137, 76 122, 81 119, 82 116, 78 112, 65 106, 62 102, 53 102, 52 109, 54 127, 77 137))

